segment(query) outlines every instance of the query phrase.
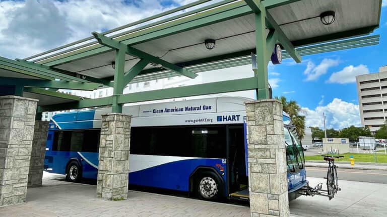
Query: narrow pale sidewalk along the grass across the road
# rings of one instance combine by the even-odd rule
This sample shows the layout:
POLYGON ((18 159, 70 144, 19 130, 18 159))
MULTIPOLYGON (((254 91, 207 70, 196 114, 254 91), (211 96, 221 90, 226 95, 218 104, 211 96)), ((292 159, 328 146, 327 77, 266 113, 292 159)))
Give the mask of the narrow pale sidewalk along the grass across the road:
MULTIPOLYGON (((338 166, 338 168, 342 169, 363 169, 363 170, 387 170, 387 164, 385 163, 356 163, 355 166, 352 167, 349 162, 336 162, 335 165, 338 166)), ((328 168, 328 163, 325 161, 306 161, 305 162, 306 167, 322 167, 322 168, 328 168)))

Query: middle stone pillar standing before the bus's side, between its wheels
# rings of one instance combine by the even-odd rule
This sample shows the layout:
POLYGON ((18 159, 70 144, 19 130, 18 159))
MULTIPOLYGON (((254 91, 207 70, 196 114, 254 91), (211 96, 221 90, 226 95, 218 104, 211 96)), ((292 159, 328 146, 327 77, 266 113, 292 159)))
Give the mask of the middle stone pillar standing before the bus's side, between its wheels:
POLYGON ((131 118, 119 113, 102 115, 97 198, 127 198, 131 118))

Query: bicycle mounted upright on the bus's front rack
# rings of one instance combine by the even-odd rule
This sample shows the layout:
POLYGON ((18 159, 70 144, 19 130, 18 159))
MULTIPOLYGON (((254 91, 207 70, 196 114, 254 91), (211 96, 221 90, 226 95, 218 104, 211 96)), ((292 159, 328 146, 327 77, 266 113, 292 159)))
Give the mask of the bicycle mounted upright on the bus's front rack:
POLYGON ((344 156, 327 156, 327 155, 321 155, 324 157, 325 161, 328 161, 328 173, 327 173, 327 193, 329 200, 335 197, 335 194, 337 191, 340 191, 341 188, 339 188, 338 184, 338 177, 337 177, 337 166, 335 165, 335 158, 344 158, 344 156))

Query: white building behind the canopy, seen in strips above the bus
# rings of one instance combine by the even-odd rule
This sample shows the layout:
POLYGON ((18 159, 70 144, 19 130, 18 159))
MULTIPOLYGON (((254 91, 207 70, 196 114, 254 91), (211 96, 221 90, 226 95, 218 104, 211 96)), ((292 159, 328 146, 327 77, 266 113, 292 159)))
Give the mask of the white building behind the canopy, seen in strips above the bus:
MULTIPOLYGON (((139 83, 130 83, 126 85, 123 90, 123 93, 134 93, 134 92, 142 92, 149 90, 157 90, 157 89, 165 89, 172 87, 181 87, 181 86, 189 86, 201 83, 210 83, 222 80, 233 80, 240 79, 253 76, 254 73, 251 70, 251 65, 243 65, 233 68, 219 69, 214 71, 207 71, 203 73, 198 73, 198 77, 195 79, 191 79, 185 76, 175 76, 170 78, 162 78, 158 80, 150 80, 139 83)), ((113 95, 113 88, 101 88, 93 91, 86 90, 65 90, 59 89, 59 92, 68 93, 72 95, 77 95, 85 98, 101 98, 106 96, 113 95)), ((190 96, 183 98, 173 98, 173 99, 165 99, 165 100, 157 100, 159 102, 162 101, 175 101, 175 100, 186 100, 193 98, 206 98, 206 97, 215 97, 215 96, 241 96, 246 98, 255 98, 255 90, 247 90, 247 91, 239 91, 239 92, 230 92, 230 93, 219 93, 219 94, 211 94, 211 95, 202 95, 202 96, 190 96)), ((62 111, 67 112, 67 111, 62 111)), ((43 121, 49 121, 51 117, 59 112, 44 112, 42 114, 43 121)))

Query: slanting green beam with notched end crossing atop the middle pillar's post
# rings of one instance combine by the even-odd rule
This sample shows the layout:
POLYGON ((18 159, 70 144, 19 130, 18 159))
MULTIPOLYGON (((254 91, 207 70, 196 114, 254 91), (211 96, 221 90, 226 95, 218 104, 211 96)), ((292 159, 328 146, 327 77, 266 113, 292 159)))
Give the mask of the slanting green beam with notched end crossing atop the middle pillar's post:
POLYGON ((145 59, 149 62, 153 62, 155 64, 161 64, 164 68, 167 68, 169 70, 172 70, 172 71, 175 71, 181 75, 184 75, 184 76, 187 76, 189 78, 195 78, 196 74, 194 73, 190 73, 188 72, 186 69, 184 68, 181 68, 175 64, 172 64, 170 62, 167 62, 163 59, 160 59, 159 57, 155 57, 153 55, 150 55, 148 53, 145 53, 144 51, 141 51, 137 48, 134 48, 134 47, 131 47, 131 46, 128 46, 128 45, 125 45, 121 42, 118 42, 116 40, 113 40, 113 39, 110 39, 100 33, 97 33, 97 32, 92 32, 92 34, 94 35, 94 37, 98 40, 98 42, 102 45, 105 45, 105 46, 108 46, 110 48, 113 48, 113 49, 118 49, 118 47, 120 45, 122 46, 125 46, 126 47, 126 53, 129 54, 129 55, 132 55, 132 56, 135 56, 135 57, 138 57, 138 58, 141 58, 141 59, 145 59))

